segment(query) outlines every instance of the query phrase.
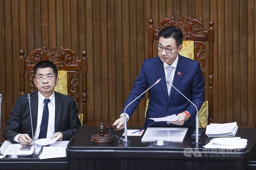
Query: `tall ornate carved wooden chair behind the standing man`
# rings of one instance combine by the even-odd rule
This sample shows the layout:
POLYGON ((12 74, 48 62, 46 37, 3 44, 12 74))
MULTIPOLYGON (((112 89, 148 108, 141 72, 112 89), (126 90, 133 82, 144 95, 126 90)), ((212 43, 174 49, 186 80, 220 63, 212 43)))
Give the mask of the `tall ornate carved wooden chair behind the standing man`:
MULTIPOLYGON (((175 18, 165 18, 158 23, 156 28, 154 28, 152 19, 149 20, 148 27, 148 56, 153 57, 153 42, 158 40, 158 34, 160 30, 167 26, 176 26, 182 30, 183 33, 183 48, 180 55, 187 56, 193 60, 200 62, 202 74, 205 78, 205 43, 209 43, 209 54, 208 54, 208 101, 204 101, 203 106, 198 111, 199 117, 199 127, 204 127, 208 123, 213 122, 213 99, 212 99, 212 84, 213 84, 213 43, 214 43, 214 28, 213 21, 209 23, 209 29, 204 27, 204 24, 197 20, 188 18, 185 20, 180 17, 175 20, 175 18), (209 112, 209 114, 208 114, 209 112)), ((148 106, 148 102, 147 102, 148 106)), ((146 113, 146 112, 145 112, 146 113)))

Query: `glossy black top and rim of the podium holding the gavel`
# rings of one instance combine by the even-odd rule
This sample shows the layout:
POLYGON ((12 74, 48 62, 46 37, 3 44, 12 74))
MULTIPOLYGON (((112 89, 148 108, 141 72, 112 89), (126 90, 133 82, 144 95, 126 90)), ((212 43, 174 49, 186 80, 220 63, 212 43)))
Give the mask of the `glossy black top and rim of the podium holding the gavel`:
MULTIPOLYGON (((141 129, 129 127, 128 129, 141 129)), ((203 146, 212 138, 205 134, 199 137, 202 144, 192 144, 195 137, 191 137, 194 129, 188 129, 183 142, 172 142, 170 147, 148 147, 150 142, 141 142, 142 136, 128 136, 131 143, 119 143, 117 140, 110 143, 91 142, 91 136, 98 133, 98 127, 81 127, 68 143, 66 154, 71 158, 158 158, 158 159, 225 159, 245 160, 252 158, 256 149, 256 129, 238 129, 236 137, 248 139, 244 149, 205 149, 203 146), (186 155, 186 151, 189 155, 186 155), (125 154, 123 154, 125 153, 125 154), (170 154, 172 153, 172 154, 170 154), (198 155, 198 154, 201 154, 198 155), (224 155, 224 156, 223 156, 224 155)), ((113 130, 119 137, 124 130, 113 130)))

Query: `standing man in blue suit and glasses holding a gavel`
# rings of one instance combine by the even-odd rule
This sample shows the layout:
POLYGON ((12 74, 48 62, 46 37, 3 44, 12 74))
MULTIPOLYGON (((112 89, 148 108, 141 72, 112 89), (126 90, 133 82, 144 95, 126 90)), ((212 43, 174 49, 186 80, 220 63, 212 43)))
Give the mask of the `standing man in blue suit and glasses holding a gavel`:
MULTIPOLYGON (((196 108, 174 88, 167 84, 170 81, 181 93, 191 100, 199 110, 204 102, 204 77, 200 63, 178 54, 182 49, 183 35, 179 28, 169 26, 158 35, 156 46, 158 57, 146 59, 135 80, 120 118, 114 122, 117 129, 124 128, 124 108, 135 98, 152 86, 159 78, 162 81, 149 89, 149 104, 144 127, 196 127, 196 108), (174 122, 154 122, 149 118, 165 117, 176 114, 174 122)), ((127 121, 142 95, 126 108, 127 121)))

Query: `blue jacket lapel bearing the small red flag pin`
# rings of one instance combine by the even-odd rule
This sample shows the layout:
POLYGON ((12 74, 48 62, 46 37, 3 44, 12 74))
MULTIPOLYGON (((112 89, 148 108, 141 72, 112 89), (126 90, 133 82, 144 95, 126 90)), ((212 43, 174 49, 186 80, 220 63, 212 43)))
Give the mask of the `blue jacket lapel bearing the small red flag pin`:
MULTIPOLYGON (((176 88, 180 84, 180 80, 183 78, 184 73, 186 72, 186 68, 184 67, 185 65, 186 65, 186 63, 184 62, 182 56, 179 54, 179 60, 178 60, 177 67, 176 67, 174 77, 173 77, 173 81, 172 81, 172 85, 176 88)), ((171 88, 168 103, 171 100, 175 91, 176 90, 174 88, 171 88)))

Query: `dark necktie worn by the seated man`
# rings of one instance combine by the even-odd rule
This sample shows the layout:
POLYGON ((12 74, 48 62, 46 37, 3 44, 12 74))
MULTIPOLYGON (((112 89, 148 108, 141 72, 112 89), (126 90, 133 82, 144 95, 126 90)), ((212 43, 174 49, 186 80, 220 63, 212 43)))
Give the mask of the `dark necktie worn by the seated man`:
POLYGON ((49 109, 48 109, 49 102, 50 102, 50 99, 44 99, 44 110, 43 110, 42 122, 41 122, 38 139, 46 138, 46 135, 47 135, 48 118, 49 118, 49 109))

